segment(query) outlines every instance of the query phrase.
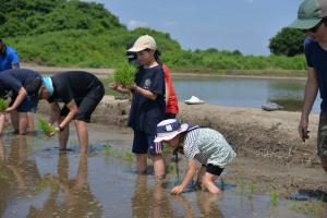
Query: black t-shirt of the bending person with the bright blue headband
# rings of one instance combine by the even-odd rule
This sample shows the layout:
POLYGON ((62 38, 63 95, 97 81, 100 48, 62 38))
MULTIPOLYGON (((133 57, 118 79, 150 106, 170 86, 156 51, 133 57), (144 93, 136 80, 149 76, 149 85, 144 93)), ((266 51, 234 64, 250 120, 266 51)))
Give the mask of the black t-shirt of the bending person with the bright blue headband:
POLYGON ((64 104, 83 99, 89 90, 101 84, 95 75, 84 71, 62 72, 51 76, 51 81, 53 94, 48 101, 64 104))

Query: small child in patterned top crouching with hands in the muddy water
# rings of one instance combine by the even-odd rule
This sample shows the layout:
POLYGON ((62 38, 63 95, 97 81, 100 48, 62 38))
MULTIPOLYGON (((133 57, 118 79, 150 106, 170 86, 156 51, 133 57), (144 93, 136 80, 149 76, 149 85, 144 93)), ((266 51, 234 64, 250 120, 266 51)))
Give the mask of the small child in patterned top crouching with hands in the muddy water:
POLYGON ((220 192, 215 181, 237 155, 219 132, 169 119, 157 125, 155 143, 159 142, 165 142, 174 152, 184 154, 189 161, 186 175, 182 184, 171 190, 172 194, 182 193, 192 181, 196 172, 196 160, 202 164, 197 182, 213 194, 220 192))

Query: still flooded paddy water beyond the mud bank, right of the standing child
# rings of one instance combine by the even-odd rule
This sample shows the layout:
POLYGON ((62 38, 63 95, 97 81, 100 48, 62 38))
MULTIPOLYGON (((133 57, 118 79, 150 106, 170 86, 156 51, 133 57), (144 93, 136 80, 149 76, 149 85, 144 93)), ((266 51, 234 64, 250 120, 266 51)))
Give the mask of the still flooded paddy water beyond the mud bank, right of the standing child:
MULTIPOLYGON (((305 80, 242 77, 173 77, 180 101, 192 95, 210 105, 261 108, 267 101, 279 100, 286 110, 300 111, 305 80)), ((319 112, 317 97, 313 112, 319 112)))

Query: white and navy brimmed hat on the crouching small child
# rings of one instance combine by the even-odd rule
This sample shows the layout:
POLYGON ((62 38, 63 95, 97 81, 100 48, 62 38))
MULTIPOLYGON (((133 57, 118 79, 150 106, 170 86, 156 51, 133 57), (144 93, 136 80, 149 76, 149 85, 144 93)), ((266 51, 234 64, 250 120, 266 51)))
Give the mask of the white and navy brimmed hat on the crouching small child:
POLYGON ((154 142, 169 141, 178 134, 185 132, 187 128, 187 123, 181 124, 175 119, 164 120, 157 124, 157 136, 154 142))

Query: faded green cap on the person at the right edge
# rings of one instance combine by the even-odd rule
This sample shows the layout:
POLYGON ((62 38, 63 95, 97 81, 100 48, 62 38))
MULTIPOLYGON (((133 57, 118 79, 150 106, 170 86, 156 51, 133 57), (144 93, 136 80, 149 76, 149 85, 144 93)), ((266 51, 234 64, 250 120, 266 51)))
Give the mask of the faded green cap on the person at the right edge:
POLYGON ((327 16, 327 0, 304 0, 299 8, 298 19, 291 28, 308 29, 327 16))

